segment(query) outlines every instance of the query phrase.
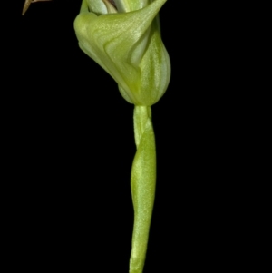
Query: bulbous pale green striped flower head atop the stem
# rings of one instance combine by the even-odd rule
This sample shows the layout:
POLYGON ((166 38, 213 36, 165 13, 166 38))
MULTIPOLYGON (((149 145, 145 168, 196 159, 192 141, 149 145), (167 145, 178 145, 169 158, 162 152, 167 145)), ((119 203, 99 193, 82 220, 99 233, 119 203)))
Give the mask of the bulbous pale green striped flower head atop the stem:
POLYGON ((123 98, 136 105, 158 102, 170 81, 170 58, 156 17, 165 2, 83 0, 74 22, 83 52, 110 73, 123 98))

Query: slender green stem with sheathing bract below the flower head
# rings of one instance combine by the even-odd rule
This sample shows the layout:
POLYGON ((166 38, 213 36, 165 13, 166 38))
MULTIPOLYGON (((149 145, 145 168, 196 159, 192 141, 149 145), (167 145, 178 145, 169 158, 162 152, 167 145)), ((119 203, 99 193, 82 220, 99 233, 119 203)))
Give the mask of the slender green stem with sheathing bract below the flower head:
POLYGON ((151 122, 151 107, 135 106, 134 133, 137 151, 131 170, 134 226, 130 273, 142 273, 156 186, 156 147, 151 122))

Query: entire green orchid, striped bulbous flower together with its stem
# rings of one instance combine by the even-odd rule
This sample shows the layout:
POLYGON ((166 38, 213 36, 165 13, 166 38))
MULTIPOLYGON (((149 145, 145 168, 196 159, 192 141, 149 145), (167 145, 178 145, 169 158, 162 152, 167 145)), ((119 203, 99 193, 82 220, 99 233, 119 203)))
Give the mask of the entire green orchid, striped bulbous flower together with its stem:
POLYGON ((132 163, 134 227, 130 273, 144 266, 156 184, 151 105, 170 82, 170 58, 158 13, 166 0, 83 0, 74 22, 79 46, 109 73, 122 97, 135 105, 137 152, 132 163))

